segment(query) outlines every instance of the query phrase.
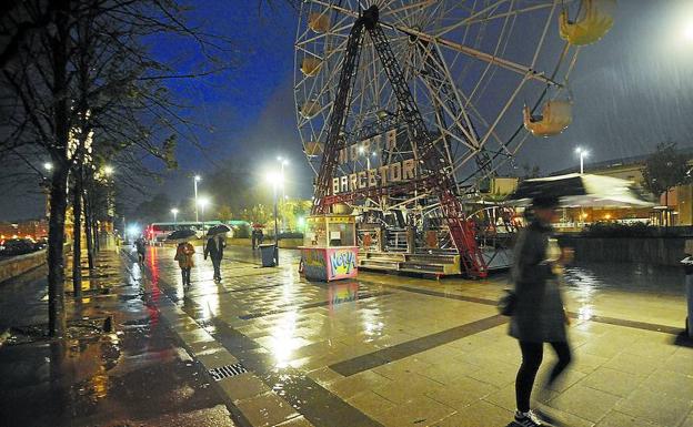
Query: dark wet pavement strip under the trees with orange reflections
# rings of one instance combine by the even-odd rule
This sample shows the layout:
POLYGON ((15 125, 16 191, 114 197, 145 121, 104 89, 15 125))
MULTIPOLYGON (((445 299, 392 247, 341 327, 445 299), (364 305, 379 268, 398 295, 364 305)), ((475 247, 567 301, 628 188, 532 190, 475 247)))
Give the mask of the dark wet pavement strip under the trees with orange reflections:
MULTIPOLYGON (((0 285, 1 426, 234 426, 209 375, 181 347, 116 251, 66 296, 69 337, 42 336, 46 271, 0 285), (112 333, 103 333, 112 317, 112 333)), ((71 279, 66 286, 71 289, 71 279)))

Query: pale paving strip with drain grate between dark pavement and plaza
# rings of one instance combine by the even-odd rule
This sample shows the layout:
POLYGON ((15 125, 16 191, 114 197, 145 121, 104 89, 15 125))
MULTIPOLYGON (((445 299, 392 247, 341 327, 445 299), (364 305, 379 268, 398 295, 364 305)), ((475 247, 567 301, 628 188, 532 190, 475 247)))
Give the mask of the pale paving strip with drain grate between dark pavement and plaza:
MULTIPOLYGON (((125 250, 121 248, 120 252, 131 261, 137 262, 137 258, 125 250)), ((128 265, 125 268, 131 272, 128 265)), ((149 267, 142 266, 141 270, 143 274, 147 274, 147 278, 151 279, 149 267)), ((170 284, 161 278, 159 278, 159 286, 171 288, 170 284)), ((160 294, 154 306, 167 326, 175 334, 181 346, 203 367, 210 384, 223 397, 229 411, 233 415, 233 421, 238 423, 239 427, 282 426, 302 418, 302 415, 291 404, 277 395, 252 372, 245 370, 227 348, 173 303, 165 292, 160 294), (274 407, 259 408, 252 405, 252 399, 255 397, 272 401, 274 407), (267 414, 262 414, 262 409, 267 414, 274 414, 282 419, 278 419, 278 423, 268 423, 262 419, 267 417, 267 414)), ((302 425, 311 426, 304 419, 302 425)))

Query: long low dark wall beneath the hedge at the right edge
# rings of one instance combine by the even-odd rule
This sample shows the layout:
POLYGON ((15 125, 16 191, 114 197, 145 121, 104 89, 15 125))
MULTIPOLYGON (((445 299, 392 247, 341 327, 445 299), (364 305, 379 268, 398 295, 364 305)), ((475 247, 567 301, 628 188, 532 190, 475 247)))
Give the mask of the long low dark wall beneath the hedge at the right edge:
POLYGON ((680 266, 685 237, 571 237, 561 236, 562 245, 575 250, 575 261, 624 262, 680 266))

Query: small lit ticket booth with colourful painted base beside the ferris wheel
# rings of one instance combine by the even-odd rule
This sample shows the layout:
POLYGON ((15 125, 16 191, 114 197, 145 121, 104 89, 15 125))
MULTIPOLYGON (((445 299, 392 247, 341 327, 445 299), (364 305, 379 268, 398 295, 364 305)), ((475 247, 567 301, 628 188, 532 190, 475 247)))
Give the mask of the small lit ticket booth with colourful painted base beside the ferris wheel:
POLYGON ((309 216, 301 250, 301 266, 309 281, 356 277, 359 246, 351 215, 309 216))

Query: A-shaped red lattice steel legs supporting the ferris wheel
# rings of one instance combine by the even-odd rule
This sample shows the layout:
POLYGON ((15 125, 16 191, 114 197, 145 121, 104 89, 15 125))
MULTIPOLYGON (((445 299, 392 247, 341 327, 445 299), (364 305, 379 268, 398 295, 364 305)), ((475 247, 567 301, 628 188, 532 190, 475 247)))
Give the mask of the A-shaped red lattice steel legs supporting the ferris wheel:
POLYGON ((443 217, 448 224, 452 241, 460 253, 461 267, 471 277, 485 277, 488 265, 476 243, 473 224, 464 217, 464 210, 456 194, 456 183, 452 175, 453 165, 446 155, 441 155, 436 148, 436 138, 433 138, 423 121, 414 98, 406 84, 402 69, 390 47, 388 38, 379 23, 379 9, 371 6, 361 13, 354 22, 346 41, 345 55, 342 62, 335 101, 330 115, 328 139, 325 141, 322 164, 318 175, 315 197, 312 206, 313 214, 327 214, 330 206, 340 200, 355 200, 375 195, 382 191, 403 191, 404 186, 416 186, 418 183, 431 194, 436 194, 443 217), (364 30, 368 30, 378 52, 380 62, 388 77, 399 104, 399 113, 406 124, 408 136, 411 141, 420 142, 420 150, 414 151, 414 159, 419 162, 423 179, 405 185, 390 185, 388 189, 364 189, 349 194, 330 195, 330 183, 338 170, 339 150, 344 141, 340 138, 346 121, 352 92, 353 78, 356 74, 356 63, 363 43, 364 30), (374 191, 375 190, 375 191, 374 191))

